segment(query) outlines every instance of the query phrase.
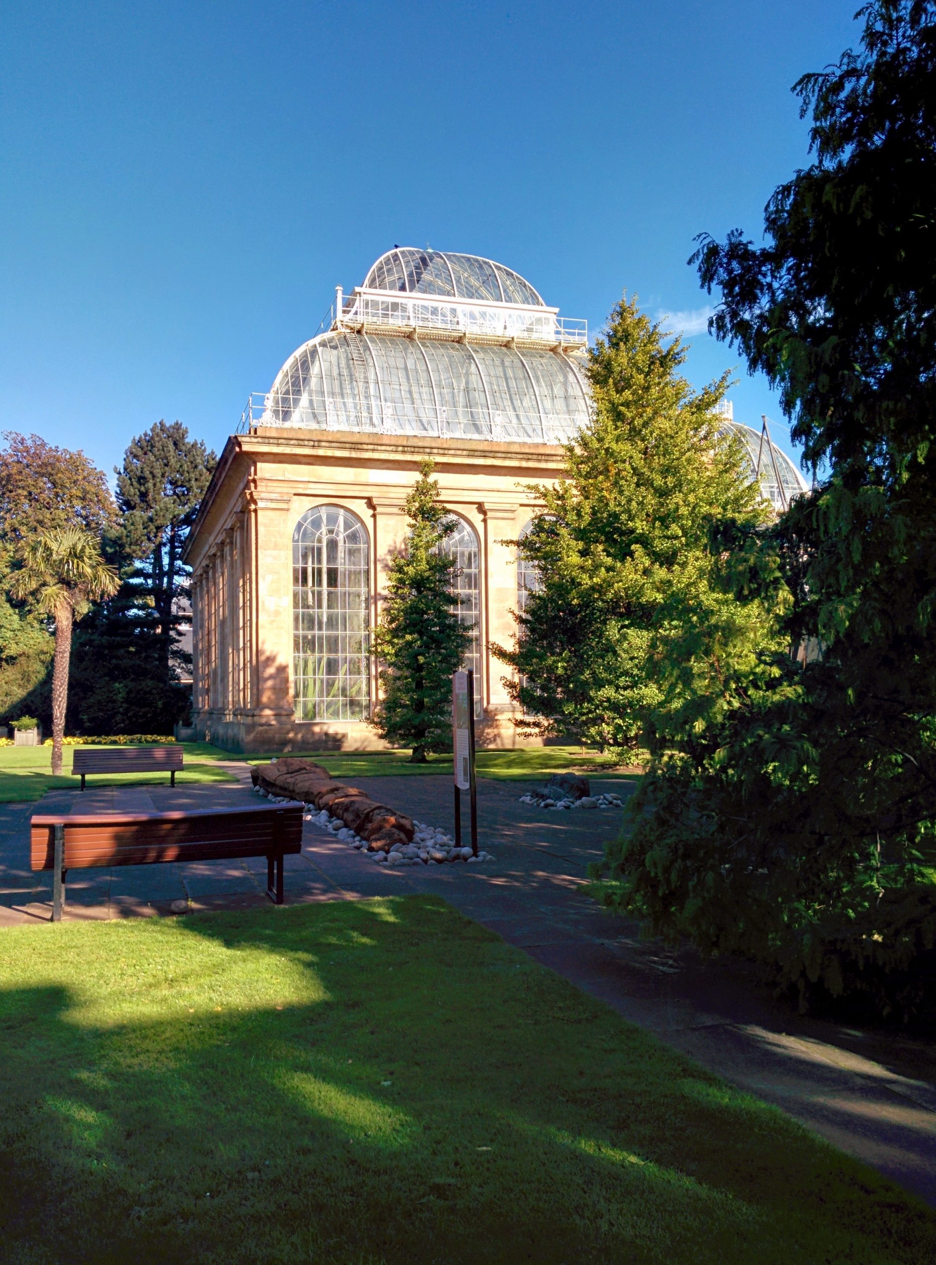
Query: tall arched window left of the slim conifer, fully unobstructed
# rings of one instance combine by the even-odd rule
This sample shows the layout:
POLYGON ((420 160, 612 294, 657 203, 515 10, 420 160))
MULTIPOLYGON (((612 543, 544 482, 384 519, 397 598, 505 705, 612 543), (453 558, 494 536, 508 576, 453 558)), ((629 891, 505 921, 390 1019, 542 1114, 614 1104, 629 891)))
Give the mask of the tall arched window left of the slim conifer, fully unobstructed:
POLYGON ((296 720, 366 720, 369 715, 369 554, 363 522, 338 505, 316 505, 296 525, 296 720))

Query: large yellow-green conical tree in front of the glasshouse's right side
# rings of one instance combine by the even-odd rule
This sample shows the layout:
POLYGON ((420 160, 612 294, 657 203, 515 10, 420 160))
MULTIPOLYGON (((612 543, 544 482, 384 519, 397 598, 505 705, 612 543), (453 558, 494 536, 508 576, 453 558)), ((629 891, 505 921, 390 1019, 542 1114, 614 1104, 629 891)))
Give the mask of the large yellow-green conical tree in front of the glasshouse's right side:
POLYGON ((739 443, 718 430, 727 376, 696 392, 684 361, 626 296, 591 353, 594 415, 567 449, 565 478, 533 488, 544 514, 519 549, 536 587, 515 645, 493 648, 517 673, 506 684, 521 729, 634 748, 693 673, 713 679, 760 635, 759 615, 717 583, 710 535, 765 511, 739 443), (702 640, 668 697, 660 662, 689 627, 702 640))

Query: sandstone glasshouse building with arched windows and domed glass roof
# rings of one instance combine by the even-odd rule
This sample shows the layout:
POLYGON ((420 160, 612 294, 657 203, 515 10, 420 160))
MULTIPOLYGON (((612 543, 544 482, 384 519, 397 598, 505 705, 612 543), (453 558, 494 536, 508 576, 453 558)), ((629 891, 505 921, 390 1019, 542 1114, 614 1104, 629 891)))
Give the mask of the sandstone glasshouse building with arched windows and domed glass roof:
MULTIPOLYGON (((194 724, 233 750, 364 750, 377 692, 369 638, 403 502, 426 458, 458 521, 457 602, 472 626, 477 734, 514 746, 492 659, 533 577, 526 491, 562 474, 587 421, 588 331, 510 268, 395 248, 335 302, 228 440, 187 544, 194 724)), ((751 477, 783 507, 802 487, 768 435, 734 423, 751 477)))

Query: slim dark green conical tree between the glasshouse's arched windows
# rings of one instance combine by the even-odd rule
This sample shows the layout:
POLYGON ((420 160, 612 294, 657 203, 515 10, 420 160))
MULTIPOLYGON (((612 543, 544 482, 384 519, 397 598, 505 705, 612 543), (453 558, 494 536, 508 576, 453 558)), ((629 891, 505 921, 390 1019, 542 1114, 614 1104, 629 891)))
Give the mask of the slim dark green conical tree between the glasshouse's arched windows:
POLYGON ((372 724, 382 737, 410 746, 414 764, 452 743, 452 673, 471 641, 453 605, 455 560, 445 541, 455 520, 439 503, 433 462, 406 498, 409 535, 405 550, 390 564, 387 602, 374 649, 382 662, 382 698, 372 724))

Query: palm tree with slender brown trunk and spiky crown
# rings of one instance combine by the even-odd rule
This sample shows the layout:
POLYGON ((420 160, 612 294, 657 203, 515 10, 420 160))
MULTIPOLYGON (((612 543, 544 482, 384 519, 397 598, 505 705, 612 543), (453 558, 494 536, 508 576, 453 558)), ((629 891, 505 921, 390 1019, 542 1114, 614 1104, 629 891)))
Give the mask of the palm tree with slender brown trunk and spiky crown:
POLYGON ((52 665, 53 773, 62 772, 72 627, 92 601, 113 597, 119 586, 118 573, 101 558, 96 539, 81 528, 52 528, 30 540, 23 554, 23 569, 13 577, 13 596, 32 597, 37 610, 56 621, 56 657, 52 665))

